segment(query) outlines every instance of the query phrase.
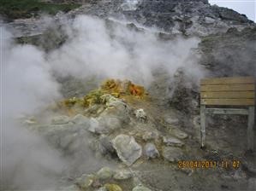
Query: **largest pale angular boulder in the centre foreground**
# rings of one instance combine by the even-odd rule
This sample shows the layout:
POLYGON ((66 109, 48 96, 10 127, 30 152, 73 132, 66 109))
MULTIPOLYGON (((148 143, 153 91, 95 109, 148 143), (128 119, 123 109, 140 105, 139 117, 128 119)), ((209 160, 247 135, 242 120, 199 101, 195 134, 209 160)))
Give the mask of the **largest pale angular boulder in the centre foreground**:
POLYGON ((142 148, 133 136, 119 135, 112 143, 119 159, 126 165, 132 165, 142 154, 142 148))

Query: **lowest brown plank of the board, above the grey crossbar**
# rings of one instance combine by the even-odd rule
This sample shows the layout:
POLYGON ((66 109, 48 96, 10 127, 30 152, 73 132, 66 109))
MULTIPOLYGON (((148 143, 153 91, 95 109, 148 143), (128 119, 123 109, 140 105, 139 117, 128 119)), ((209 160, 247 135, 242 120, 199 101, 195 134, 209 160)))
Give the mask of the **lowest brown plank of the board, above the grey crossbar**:
POLYGON ((201 105, 254 106, 254 99, 201 99, 201 105))

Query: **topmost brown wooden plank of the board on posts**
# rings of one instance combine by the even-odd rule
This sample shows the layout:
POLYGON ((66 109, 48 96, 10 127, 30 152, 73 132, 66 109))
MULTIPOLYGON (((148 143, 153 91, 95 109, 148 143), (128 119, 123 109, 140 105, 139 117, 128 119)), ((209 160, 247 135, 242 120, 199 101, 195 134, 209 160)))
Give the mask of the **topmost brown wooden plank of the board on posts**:
POLYGON ((253 77, 227 77, 227 78, 205 78, 200 81, 200 84, 254 84, 253 77))

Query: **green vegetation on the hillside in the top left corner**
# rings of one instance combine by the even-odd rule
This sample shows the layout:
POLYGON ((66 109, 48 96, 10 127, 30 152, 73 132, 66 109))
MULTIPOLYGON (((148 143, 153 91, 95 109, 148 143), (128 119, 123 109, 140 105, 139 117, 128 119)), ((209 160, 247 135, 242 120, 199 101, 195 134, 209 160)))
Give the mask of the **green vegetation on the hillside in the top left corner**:
POLYGON ((44 3, 40 0, 0 0, 0 14, 9 20, 30 18, 39 13, 57 14, 80 7, 75 3, 44 3))

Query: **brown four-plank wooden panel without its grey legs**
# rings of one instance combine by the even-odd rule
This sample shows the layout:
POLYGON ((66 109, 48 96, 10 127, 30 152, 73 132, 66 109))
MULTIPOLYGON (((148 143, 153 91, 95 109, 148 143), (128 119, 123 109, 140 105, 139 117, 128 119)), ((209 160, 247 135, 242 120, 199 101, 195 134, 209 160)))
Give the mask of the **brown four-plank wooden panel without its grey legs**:
POLYGON ((254 106, 255 78, 205 78, 200 81, 201 105, 254 106))

